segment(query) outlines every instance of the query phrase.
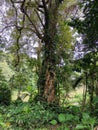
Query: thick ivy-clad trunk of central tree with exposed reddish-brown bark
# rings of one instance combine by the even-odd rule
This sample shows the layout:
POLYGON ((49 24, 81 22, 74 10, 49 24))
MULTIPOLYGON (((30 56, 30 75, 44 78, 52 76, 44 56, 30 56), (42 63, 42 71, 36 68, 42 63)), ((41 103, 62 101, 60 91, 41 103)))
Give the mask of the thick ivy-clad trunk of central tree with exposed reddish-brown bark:
POLYGON ((56 25, 57 8, 54 6, 45 15, 44 54, 38 80, 39 95, 47 103, 58 103, 56 92, 56 25))

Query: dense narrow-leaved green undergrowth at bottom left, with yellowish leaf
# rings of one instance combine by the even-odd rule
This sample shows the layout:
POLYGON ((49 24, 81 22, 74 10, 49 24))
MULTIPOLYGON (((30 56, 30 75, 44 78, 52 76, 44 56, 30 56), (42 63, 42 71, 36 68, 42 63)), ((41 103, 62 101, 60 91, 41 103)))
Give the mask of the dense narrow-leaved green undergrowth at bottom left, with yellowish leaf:
POLYGON ((36 127, 42 127, 55 117, 54 112, 45 110, 40 103, 12 104, 5 109, 1 108, 1 114, 3 113, 0 123, 4 124, 2 128, 6 129, 32 130, 36 127))

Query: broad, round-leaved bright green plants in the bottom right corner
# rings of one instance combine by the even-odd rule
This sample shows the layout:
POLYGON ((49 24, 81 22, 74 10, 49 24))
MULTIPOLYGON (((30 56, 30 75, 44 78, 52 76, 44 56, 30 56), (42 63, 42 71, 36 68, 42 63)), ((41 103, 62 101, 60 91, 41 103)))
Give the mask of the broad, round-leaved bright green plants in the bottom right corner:
MULTIPOLYGON (((78 107, 73 107, 77 108, 78 107)), ((74 109, 73 109, 74 110, 74 109)), ((52 120, 50 123, 52 125, 57 124, 57 121, 61 123, 58 130, 93 130, 97 120, 95 117, 91 117, 87 112, 81 113, 79 110, 76 112, 70 109, 71 113, 60 113, 56 120, 52 120), (78 112, 78 114, 76 114, 78 112), (73 114, 72 114, 73 113, 73 114), (66 125, 64 125, 66 124, 66 125)))

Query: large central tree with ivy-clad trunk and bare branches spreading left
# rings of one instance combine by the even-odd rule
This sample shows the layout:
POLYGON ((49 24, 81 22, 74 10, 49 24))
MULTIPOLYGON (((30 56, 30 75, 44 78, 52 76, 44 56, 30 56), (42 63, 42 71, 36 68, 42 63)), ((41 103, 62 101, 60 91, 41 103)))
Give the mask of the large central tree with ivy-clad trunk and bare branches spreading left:
MULTIPOLYGON (((59 34, 58 16, 59 7, 64 1, 8 0, 6 2, 9 4, 9 10, 7 10, 7 14, 10 17, 9 26, 13 27, 11 31, 14 39, 12 49, 15 50, 15 67, 17 70, 19 69, 21 48, 24 47, 24 45, 30 46, 30 40, 34 41, 34 39, 36 39, 36 41, 38 41, 38 39, 40 39, 41 42, 39 44, 41 44, 42 50, 40 55, 42 56, 40 56, 41 65, 39 69, 40 72, 38 73, 38 100, 44 100, 49 104, 53 102, 58 103, 56 68, 58 65, 57 55, 59 55, 58 53, 61 51, 60 49, 59 51, 57 50, 59 42, 58 35, 61 35, 59 34)), ((67 2, 65 1, 65 3, 67 2)), ((9 26, 7 26, 7 28, 9 26)), ((67 31, 70 30, 68 28, 66 29, 67 31)), ((70 43, 68 44, 70 46, 70 43)), ((64 51, 65 50, 63 50, 63 52, 64 51)), ((62 60, 62 57, 60 58, 62 60)))

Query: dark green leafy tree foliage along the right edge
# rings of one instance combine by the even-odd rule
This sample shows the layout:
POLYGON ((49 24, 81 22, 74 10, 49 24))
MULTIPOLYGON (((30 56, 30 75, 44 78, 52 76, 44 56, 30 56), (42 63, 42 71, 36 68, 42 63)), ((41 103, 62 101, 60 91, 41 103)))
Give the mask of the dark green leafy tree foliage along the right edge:
POLYGON ((82 15, 73 18, 72 26, 76 27, 82 36, 82 44, 84 45, 84 56, 80 60, 80 68, 86 73, 86 84, 90 94, 90 106, 92 108, 94 92, 97 92, 97 56, 98 56, 98 25, 97 12, 98 2, 96 0, 83 0, 80 2, 82 7, 82 15))

